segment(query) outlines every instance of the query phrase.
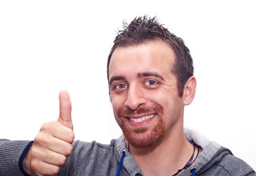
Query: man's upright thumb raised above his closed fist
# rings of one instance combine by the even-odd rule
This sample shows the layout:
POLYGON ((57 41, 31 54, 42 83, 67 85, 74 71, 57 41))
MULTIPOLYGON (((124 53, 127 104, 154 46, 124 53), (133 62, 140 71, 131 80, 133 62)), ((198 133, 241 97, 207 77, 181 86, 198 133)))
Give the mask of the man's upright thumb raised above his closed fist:
POLYGON ((57 120, 61 125, 73 130, 71 119, 71 101, 67 91, 59 92, 59 118, 57 120))

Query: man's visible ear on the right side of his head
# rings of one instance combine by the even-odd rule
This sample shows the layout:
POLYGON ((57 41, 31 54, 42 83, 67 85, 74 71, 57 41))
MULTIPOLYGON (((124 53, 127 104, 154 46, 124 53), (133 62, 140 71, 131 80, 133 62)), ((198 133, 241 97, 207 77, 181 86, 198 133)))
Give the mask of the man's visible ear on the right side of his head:
POLYGON ((191 104, 196 94, 196 87, 197 87, 197 80, 195 76, 191 76, 187 80, 186 84, 184 85, 183 96, 182 96, 184 105, 191 104))

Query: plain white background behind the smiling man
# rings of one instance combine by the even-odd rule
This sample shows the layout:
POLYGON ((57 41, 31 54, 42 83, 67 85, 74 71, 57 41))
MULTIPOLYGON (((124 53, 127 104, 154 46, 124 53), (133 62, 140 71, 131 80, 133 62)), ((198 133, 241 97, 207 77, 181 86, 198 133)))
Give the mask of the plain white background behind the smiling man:
POLYGON ((183 38, 198 81, 185 127, 256 169, 254 1, 1 1, 0 138, 33 140, 72 101, 76 139, 109 143, 121 130, 107 57, 122 21, 157 16, 183 38))

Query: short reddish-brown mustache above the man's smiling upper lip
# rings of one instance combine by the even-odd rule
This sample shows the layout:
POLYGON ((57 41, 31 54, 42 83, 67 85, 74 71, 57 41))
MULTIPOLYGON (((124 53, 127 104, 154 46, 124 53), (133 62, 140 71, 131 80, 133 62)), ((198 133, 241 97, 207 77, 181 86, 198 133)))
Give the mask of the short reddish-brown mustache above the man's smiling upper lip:
POLYGON ((163 108, 161 105, 155 104, 150 107, 139 107, 136 110, 131 110, 129 108, 121 108, 118 110, 118 117, 129 117, 129 116, 136 116, 140 114, 163 114, 163 108))

